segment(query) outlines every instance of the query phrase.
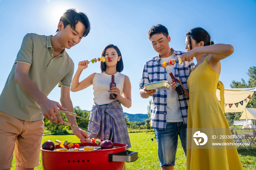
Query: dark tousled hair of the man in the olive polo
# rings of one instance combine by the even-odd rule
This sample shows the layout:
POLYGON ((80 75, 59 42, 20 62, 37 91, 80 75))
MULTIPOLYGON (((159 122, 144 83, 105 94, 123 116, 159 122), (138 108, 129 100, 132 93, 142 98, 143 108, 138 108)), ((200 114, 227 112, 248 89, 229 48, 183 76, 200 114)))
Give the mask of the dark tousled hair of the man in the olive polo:
MULTIPOLYGON (((89 34, 91 29, 91 24, 87 15, 83 12, 78 12, 76 9, 67 9, 67 11, 60 17, 60 21, 63 22, 64 28, 70 25, 72 29, 75 29, 76 24, 81 22, 85 26, 85 31, 83 32, 84 37, 89 34)), ((56 32, 58 31, 59 30, 57 29, 56 32)))

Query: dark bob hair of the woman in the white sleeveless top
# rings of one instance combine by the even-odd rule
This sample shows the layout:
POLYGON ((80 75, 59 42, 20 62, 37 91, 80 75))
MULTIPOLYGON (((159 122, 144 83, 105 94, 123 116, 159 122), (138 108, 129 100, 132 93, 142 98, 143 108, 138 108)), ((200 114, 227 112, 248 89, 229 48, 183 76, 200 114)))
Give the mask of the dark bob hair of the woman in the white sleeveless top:
MULTIPOLYGON (((120 50, 118 49, 117 46, 113 45, 113 44, 110 44, 110 45, 107 45, 105 47, 105 49, 102 51, 102 54, 101 56, 104 56, 105 57, 105 52, 106 52, 106 49, 109 49, 109 48, 114 48, 118 54, 118 57, 121 56, 120 60, 117 61, 117 64, 116 64, 116 71, 117 72, 122 72, 123 69, 124 69, 124 63, 123 63, 123 59, 122 59, 122 55, 121 55, 121 52, 120 50)), ((105 62, 101 62, 101 72, 105 72, 106 71, 106 63, 105 62)))

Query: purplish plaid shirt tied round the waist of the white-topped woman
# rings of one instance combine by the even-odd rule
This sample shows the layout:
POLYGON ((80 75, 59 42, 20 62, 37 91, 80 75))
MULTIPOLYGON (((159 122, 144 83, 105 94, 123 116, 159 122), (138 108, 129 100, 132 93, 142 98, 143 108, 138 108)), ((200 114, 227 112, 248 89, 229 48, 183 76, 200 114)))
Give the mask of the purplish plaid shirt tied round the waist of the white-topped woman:
POLYGON ((127 148, 131 147, 123 108, 118 100, 102 106, 93 103, 90 120, 100 123, 96 124, 89 121, 90 138, 125 143, 128 145, 127 148))

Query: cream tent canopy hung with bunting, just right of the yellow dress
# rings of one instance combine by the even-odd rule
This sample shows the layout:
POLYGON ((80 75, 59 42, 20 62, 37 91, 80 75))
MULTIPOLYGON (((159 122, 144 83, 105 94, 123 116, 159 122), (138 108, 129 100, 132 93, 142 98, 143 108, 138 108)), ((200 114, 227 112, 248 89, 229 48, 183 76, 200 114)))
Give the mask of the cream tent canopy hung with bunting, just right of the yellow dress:
MULTIPOLYGON (((240 88, 240 89, 225 89, 225 112, 242 112, 251 99, 253 93, 256 92, 255 88, 240 88)), ((220 101, 220 91, 217 89, 216 96, 220 101)), ((248 118, 249 119, 249 118, 248 118)))

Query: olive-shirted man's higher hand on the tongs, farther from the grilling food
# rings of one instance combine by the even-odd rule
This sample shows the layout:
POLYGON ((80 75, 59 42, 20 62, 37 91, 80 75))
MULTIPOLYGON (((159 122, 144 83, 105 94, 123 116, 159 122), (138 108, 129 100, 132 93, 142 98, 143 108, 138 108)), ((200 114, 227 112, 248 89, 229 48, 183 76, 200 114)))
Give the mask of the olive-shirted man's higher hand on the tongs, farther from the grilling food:
POLYGON ((62 107, 58 102, 45 98, 42 100, 42 102, 40 102, 39 106, 41 108, 42 114, 47 120, 50 120, 51 122, 55 122, 57 124, 63 124, 63 119, 58 108, 64 111, 66 111, 67 109, 62 107), (59 120, 57 119, 55 113, 58 116, 59 120))

